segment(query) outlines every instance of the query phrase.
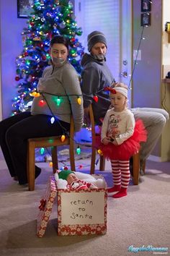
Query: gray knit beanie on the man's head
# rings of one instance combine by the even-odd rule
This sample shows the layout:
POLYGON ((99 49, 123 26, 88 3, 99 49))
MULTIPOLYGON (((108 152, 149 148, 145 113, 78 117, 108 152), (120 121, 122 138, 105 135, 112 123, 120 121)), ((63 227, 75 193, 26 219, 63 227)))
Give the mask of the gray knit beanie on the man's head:
POLYGON ((91 48, 96 43, 104 43, 107 47, 107 40, 102 32, 93 31, 87 36, 88 51, 91 51, 91 48))

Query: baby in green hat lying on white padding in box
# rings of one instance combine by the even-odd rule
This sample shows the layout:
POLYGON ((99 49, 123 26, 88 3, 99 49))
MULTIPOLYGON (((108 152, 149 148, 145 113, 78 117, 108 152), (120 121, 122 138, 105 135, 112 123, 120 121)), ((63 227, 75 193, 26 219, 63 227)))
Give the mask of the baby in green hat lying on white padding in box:
POLYGON ((90 174, 82 174, 80 172, 73 172, 71 170, 56 171, 55 180, 58 189, 98 189, 104 188, 103 179, 95 179, 90 174))

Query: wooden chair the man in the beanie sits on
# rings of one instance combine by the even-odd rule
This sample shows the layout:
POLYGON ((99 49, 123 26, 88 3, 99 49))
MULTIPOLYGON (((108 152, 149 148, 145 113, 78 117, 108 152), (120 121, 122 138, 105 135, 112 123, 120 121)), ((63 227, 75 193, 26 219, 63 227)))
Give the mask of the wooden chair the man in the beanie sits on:
MULTIPOLYGON (((93 108, 90 105, 89 107, 89 116, 91 121, 91 140, 92 140, 92 147, 91 147, 91 168, 90 174, 94 174, 95 171, 95 162, 96 162, 96 132, 95 132, 95 122, 94 122, 94 114, 93 108)), ((99 156, 99 171, 104 171, 105 166, 105 158, 103 155, 99 156)), ((140 154, 137 153, 133 155, 133 184, 138 185, 139 181, 139 169, 140 169, 140 154)))

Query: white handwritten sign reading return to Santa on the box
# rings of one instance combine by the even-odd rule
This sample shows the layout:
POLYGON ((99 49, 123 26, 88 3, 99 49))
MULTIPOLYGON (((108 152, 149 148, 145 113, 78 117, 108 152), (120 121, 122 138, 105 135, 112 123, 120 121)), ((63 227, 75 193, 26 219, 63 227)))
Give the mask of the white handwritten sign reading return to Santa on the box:
POLYGON ((104 223, 104 192, 61 193, 61 225, 104 223))

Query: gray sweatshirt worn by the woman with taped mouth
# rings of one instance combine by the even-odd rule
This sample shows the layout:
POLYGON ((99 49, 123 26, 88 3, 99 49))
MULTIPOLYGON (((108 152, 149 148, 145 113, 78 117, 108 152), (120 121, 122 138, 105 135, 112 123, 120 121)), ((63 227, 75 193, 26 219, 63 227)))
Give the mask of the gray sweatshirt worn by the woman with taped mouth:
POLYGON ((61 67, 46 67, 40 78, 37 91, 40 97, 32 102, 32 115, 45 114, 70 123, 71 112, 75 132, 81 129, 84 118, 83 98, 78 74, 67 61, 61 67), (77 98, 81 98, 81 105, 77 98), (58 99, 61 103, 58 106, 58 99))

